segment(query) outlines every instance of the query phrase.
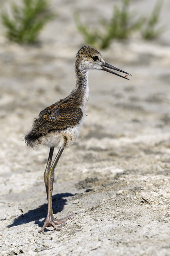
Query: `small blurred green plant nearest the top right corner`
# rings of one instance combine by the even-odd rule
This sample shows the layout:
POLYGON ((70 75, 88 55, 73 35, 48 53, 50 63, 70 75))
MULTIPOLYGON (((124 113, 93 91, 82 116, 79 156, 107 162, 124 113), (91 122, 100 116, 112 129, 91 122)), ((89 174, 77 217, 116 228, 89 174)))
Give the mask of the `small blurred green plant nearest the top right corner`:
POLYGON ((143 31, 142 31, 143 38, 145 38, 147 40, 152 40, 164 32, 165 26, 162 26, 157 29, 155 28, 159 22, 159 15, 160 15, 160 11, 162 9, 162 5, 163 5, 162 0, 158 0, 156 2, 155 8, 146 23, 145 29, 143 29, 143 31))

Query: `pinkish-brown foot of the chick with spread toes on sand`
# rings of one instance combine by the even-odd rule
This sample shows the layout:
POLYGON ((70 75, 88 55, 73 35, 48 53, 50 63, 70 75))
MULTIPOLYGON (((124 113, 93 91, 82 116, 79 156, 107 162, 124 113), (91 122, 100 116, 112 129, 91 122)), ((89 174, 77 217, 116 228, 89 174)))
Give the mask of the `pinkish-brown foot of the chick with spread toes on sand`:
POLYGON ((64 226, 66 224, 65 221, 67 221, 67 219, 70 219, 70 218, 72 219, 73 216, 74 216, 74 213, 72 213, 64 218, 61 218, 61 219, 54 219, 53 216, 47 215, 45 223, 44 223, 43 227, 41 228, 41 230, 38 231, 38 233, 43 232, 47 226, 52 226, 53 228, 55 228, 57 230, 61 230, 62 226, 64 226), (57 224, 61 224, 61 225, 57 226, 57 224))

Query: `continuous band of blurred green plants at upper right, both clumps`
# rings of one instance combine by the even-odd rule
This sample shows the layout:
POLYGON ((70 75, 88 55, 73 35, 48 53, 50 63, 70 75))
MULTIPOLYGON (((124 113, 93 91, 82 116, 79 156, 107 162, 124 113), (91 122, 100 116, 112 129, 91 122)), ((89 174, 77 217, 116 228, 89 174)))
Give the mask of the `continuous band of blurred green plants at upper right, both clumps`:
POLYGON ((162 8, 162 1, 158 0, 151 16, 138 17, 129 11, 131 0, 122 0, 122 6, 114 6, 111 19, 102 18, 99 21, 100 29, 90 29, 81 22, 78 13, 74 13, 74 20, 78 31, 83 35, 87 44, 101 49, 109 47, 114 39, 126 39, 135 31, 139 31, 146 39, 154 39, 164 32, 163 27, 156 29, 159 22, 159 14, 162 8))

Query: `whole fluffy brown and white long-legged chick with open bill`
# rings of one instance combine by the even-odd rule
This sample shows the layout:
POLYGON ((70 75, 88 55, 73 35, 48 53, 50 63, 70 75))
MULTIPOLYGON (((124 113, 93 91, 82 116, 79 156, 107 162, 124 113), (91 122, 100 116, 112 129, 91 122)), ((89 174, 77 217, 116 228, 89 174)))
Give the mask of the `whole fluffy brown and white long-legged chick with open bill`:
POLYGON ((74 89, 66 98, 61 99, 42 110, 35 118, 32 130, 29 131, 24 138, 29 147, 35 148, 39 145, 50 147, 47 167, 44 172, 44 182, 48 199, 48 214, 44 226, 39 232, 42 232, 47 226, 61 229, 57 224, 64 225, 64 221, 73 216, 73 214, 71 214, 63 219, 55 219, 53 216, 52 190, 54 170, 64 148, 71 146, 79 136, 80 127, 83 124, 85 117, 85 106, 89 95, 89 69, 104 70, 125 79, 128 79, 126 76, 130 75, 127 72, 107 64, 97 49, 83 46, 77 53, 75 59, 75 74, 77 80, 74 89), (109 69, 106 69, 106 67, 109 69), (110 69, 123 72, 127 75, 122 76, 110 69), (56 146, 59 146, 60 150, 51 164, 54 147, 56 146))

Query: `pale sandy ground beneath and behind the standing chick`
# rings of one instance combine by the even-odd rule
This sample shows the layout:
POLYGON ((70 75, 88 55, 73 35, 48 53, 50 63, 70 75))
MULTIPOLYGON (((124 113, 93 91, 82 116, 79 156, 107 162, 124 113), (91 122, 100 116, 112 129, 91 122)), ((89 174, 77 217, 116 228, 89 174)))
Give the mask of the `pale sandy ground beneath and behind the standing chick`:
MULTIPOLYGON (((135 1, 147 13, 155 1, 135 1)), ((86 120, 55 171, 53 210, 75 213, 61 231, 48 227, 43 172, 48 148, 29 150, 23 135, 45 106, 74 85, 84 44, 72 12, 97 23, 112 1, 55 1, 56 20, 37 47, 0 37, 0 255, 170 255, 170 34, 134 38, 102 51, 131 81, 89 72, 86 120)), ((169 17, 165 1, 162 22, 169 17)), ((57 149, 55 150, 55 153, 57 149)))

